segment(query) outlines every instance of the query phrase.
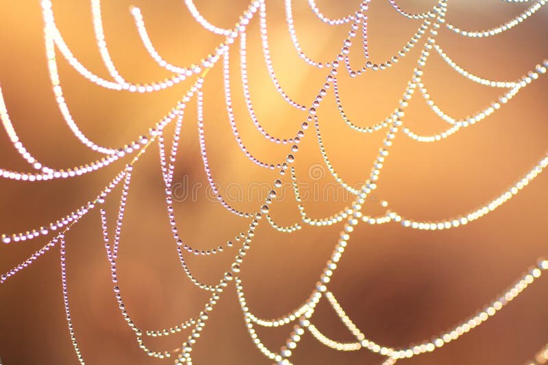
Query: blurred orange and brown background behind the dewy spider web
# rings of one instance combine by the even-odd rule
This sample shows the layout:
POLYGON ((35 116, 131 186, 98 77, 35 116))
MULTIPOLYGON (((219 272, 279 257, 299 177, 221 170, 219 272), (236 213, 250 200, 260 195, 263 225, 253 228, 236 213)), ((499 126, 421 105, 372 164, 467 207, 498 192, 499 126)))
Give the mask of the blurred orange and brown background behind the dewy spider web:
MULTIPOLYGON (((410 12, 424 11, 434 1, 401 1, 410 12)), ((359 1, 319 0, 329 16, 353 11, 359 1)), ((129 14, 129 5, 141 8, 149 35, 159 53, 178 65, 196 62, 212 51, 221 38, 195 23, 180 0, 103 1, 105 37, 121 75, 130 82, 163 79, 166 72, 148 57, 129 14)), ((210 21, 232 27, 247 1, 197 1, 210 21)), ((448 20, 463 29, 499 25, 526 5, 498 0, 449 1, 448 20)), ((93 37, 87 1, 53 1, 58 27, 73 53, 90 70, 108 78, 93 37)), ((295 54, 284 23, 282 1, 267 1, 271 53, 280 83, 301 103, 310 103, 325 72, 315 70, 295 54)), ((347 26, 321 23, 304 0, 295 1, 295 24, 303 49, 314 59, 327 60, 339 49, 347 26)), ((419 21, 397 14, 388 1, 373 1, 369 13, 369 46, 373 60, 399 50, 419 21)), ((5 101, 21 140, 50 167, 66 168, 97 159, 98 154, 79 144, 64 124, 53 99, 38 1, 0 2, 0 82, 5 101)), ((462 38, 447 29, 438 41, 465 69, 493 79, 514 80, 547 56, 548 12, 540 10, 526 23, 487 39, 462 38)), ((232 61, 237 52, 232 47, 232 61)), ((285 104, 269 83, 260 53, 258 20, 248 31, 249 79, 253 103, 260 120, 273 135, 290 137, 303 113, 285 104)), ((340 93, 356 124, 371 124, 395 107, 419 55, 415 49, 395 67, 353 79, 340 77, 340 93)), ((361 61, 354 46, 355 65, 361 61)), ((89 83, 59 55, 60 77, 67 103, 82 131, 102 146, 118 147, 148 129, 186 91, 189 83, 155 94, 112 92, 89 83)), ((221 65, 208 75, 205 86, 206 144, 214 178, 227 186, 271 183, 275 174, 261 170, 240 153, 223 109, 221 65)), ((252 153, 277 162, 287 154, 256 131, 241 97, 239 70, 233 63, 233 96, 242 138, 252 153)), ((488 105, 503 90, 468 81, 432 54, 425 83, 441 106, 456 116, 466 116, 488 105)), ((523 176, 547 149, 548 83, 545 77, 529 85, 501 111, 436 144, 419 144, 397 135, 379 189, 364 213, 379 213, 381 200, 390 208, 416 219, 442 219, 468 212, 493 199, 523 176), (376 200, 376 203, 373 202, 376 200)), ((192 103, 191 103, 192 105, 192 103)), ((322 104, 319 117, 329 157, 340 176, 359 183, 371 167, 384 132, 362 135, 351 131, 338 116, 332 94, 322 104)), ((434 133, 447 128, 416 94, 404 122, 416 131, 434 133)), ((171 130, 171 129, 170 129, 171 130)), ((207 184, 199 156, 195 107, 188 108, 175 182, 188 176, 190 185, 207 184)), ((128 161, 127 159, 125 161, 128 161)), ((122 161, 94 174, 45 183, 0 181, 0 232, 36 228, 80 206, 123 167, 122 161)), ((297 154, 297 173, 303 182, 331 184, 329 176, 313 181, 308 167, 322 163, 313 131, 297 154)), ((29 170, 5 133, 0 133, 0 166, 29 170)), ((406 230, 397 224, 361 225, 354 232, 340 269, 330 288, 347 314, 366 336, 389 346, 422 342, 445 332, 470 316, 548 253, 548 178, 540 176, 508 204, 473 224, 442 232, 406 230)), ((108 200, 114 219, 119 189, 108 200)), ((258 198, 236 203, 256 208, 258 198), (253 200, 253 201, 247 201, 253 200)), ((313 217, 323 217, 345 202, 306 202, 313 217)), ((277 201, 271 213, 279 224, 299 219, 291 195, 277 201)), ((179 230, 197 247, 219 245, 249 224, 200 195, 197 202, 176 204, 179 230)), ((111 219, 111 223, 114 221, 111 219)), ((110 284, 99 225, 93 211, 66 236, 69 296, 75 332, 88 364, 152 364, 172 360, 147 357, 136 346, 134 334, 121 315, 110 284)), ((242 265, 247 301, 258 316, 271 318, 299 305, 314 287, 336 242, 340 225, 306 226, 295 234, 282 234, 266 221, 242 265)), ((45 238, 0 247, 0 272, 4 273, 41 247, 45 238)), ((163 202, 157 146, 151 146, 136 165, 122 231, 119 282, 129 313, 141 328, 171 327, 195 316, 206 293, 193 286, 179 267, 163 202)), ((215 257, 188 255, 188 264, 203 282, 213 284, 227 269, 236 248, 215 257)), ((456 342, 432 354, 401 364, 523 364, 548 342, 547 278, 527 288, 495 318, 456 342)), ((331 308, 322 301, 313 322, 327 336, 352 340, 331 308)), ((279 349, 290 331, 259 328, 271 349, 279 349)), ((151 349, 179 346, 186 334, 147 339, 151 349)), ((75 364, 69 340, 62 294, 58 248, 0 287, 0 358, 2 364, 75 364)), ((193 351, 195 364, 268 364, 253 346, 231 286, 212 313, 193 351)), ((306 334, 292 355, 295 364, 378 364, 381 358, 366 350, 338 353, 306 334)))

